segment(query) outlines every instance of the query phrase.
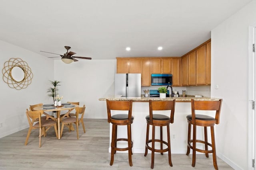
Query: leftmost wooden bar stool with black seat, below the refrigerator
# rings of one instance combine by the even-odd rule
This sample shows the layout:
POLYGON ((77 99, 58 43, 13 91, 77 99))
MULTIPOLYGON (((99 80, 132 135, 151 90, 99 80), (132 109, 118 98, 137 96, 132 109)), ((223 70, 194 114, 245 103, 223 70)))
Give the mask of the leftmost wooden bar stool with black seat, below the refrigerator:
POLYGON ((112 123, 112 139, 111 139, 111 160, 110 165, 114 162, 114 154, 116 150, 125 151, 128 150, 129 164, 132 166, 132 135, 131 135, 131 124, 133 123, 134 117, 132 116, 132 100, 130 101, 107 101, 107 110, 108 110, 108 123, 112 123), (111 115, 111 110, 126 110, 128 114, 116 114, 111 115), (118 125, 127 125, 127 139, 126 138, 117 138, 117 126, 118 125), (116 146, 117 141, 127 141, 128 147, 118 148, 116 146))

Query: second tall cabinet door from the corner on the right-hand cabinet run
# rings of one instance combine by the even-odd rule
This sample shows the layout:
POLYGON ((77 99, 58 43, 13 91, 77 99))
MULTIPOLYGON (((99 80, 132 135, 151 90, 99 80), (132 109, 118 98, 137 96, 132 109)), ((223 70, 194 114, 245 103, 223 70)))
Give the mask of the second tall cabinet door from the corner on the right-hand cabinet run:
POLYGON ((196 51, 188 54, 188 85, 196 85, 196 51))

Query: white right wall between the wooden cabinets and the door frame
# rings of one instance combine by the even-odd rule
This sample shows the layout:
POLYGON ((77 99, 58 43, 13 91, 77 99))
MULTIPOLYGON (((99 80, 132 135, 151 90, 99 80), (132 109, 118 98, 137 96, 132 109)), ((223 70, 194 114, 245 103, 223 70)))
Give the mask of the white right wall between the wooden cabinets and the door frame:
POLYGON ((235 169, 248 167, 248 35, 256 0, 212 30, 211 96, 223 98, 217 154, 235 169), (218 84, 219 88, 214 86, 218 84))

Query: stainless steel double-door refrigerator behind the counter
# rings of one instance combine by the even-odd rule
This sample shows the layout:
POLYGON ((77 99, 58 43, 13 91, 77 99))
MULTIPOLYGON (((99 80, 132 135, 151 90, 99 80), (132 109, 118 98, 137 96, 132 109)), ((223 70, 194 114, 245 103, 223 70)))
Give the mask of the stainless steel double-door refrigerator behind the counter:
POLYGON ((141 74, 115 74, 115 96, 140 97, 141 74))

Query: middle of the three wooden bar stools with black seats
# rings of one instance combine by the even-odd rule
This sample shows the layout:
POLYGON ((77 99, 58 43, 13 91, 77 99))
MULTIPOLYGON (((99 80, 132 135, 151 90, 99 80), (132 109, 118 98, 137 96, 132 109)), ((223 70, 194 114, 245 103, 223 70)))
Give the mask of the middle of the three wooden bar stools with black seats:
POLYGON ((171 159, 171 143, 170 143, 170 123, 174 122, 174 109, 175 100, 172 101, 152 101, 149 100, 149 115, 146 116, 147 121, 147 134, 146 134, 146 149, 145 154, 148 154, 148 149, 152 151, 151 154, 151 169, 154 168, 154 152, 160 152, 162 155, 168 151, 169 164, 172 166, 171 159), (171 110, 170 117, 162 114, 153 114, 153 111, 171 110), (149 138, 149 125, 152 125, 152 139, 149 138), (160 126, 160 139, 155 139, 155 127, 160 126), (163 141, 163 126, 167 127, 167 142, 163 141), (160 149, 155 148, 155 142, 160 142, 160 149), (152 143, 152 147, 149 146, 152 143), (167 145, 166 149, 163 149, 163 144, 167 145))

